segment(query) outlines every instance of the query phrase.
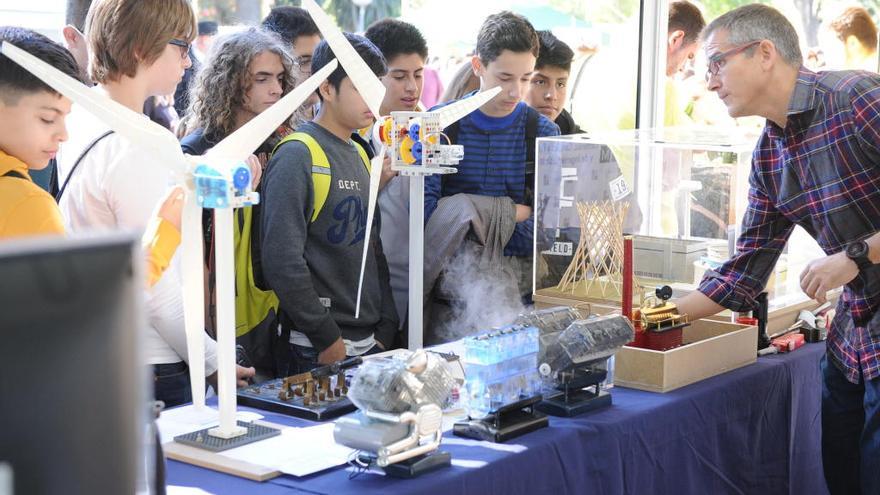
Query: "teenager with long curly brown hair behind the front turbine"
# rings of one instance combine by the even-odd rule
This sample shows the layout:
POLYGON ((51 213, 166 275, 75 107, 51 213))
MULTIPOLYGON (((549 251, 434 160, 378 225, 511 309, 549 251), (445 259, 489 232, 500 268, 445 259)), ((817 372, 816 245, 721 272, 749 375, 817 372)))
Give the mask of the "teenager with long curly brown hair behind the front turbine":
MULTIPOLYGON (((263 29, 248 28, 221 36, 214 44, 191 92, 190 125, 194 131, 181 140, 184 153, 201 155, 215 144, 274 105, 294 87, 293 60, 278 36, 263 29), (242 89, 244 88, 244 89, 242 89)), ((255 178, 262 174, 281 138, 292 132, 282 125, 249 158, 256 166, 255 178)), ((259 185, 254 187, 260 192, 259 185)), ((257 382, 275 377, 278 299, 265 290, 260 269, 260 211, 262 205, 235 210, 235 333, 236 342, 247 352, 257 370, 257 382)), ((205 210, 206 213, 210 210, 205 210)), ((213 245, 214 217, 204 216, 205 244, 213 245)), ((207 260, 209 281, 213 280, 215 260, 207 260)), ((208 318, 214 328, 215 298, 209 282, 208 318)), ((287 342, 281 347, 287 352, 287 342)))

